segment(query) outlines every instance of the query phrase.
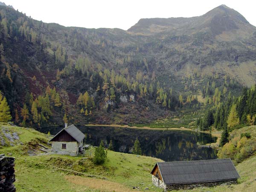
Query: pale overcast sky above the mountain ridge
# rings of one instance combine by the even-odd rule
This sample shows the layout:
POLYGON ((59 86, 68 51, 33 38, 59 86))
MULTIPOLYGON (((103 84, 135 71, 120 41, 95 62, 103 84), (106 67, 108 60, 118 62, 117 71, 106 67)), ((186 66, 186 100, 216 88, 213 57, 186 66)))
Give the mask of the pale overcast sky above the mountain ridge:
POLYGON ((5 0, 4 3, 46 23, 125 30, 140 18, 193 17, 225 4, 256 26, 255 0, 5 0))

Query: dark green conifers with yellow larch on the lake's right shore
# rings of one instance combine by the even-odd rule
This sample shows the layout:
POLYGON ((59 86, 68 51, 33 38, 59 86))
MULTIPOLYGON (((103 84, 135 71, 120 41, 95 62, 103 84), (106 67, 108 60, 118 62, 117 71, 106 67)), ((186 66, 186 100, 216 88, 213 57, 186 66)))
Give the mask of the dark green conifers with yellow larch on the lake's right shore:
POLYGON ((211 131, 214 126, 223 130, 221 144, 228 142, 228 133, 235 128, 246 125, 256 125, 256 85, 251 88, 244 87, 240 96, 227 96, 224 102, 209 107, 204 116, 196 119, 196 126, 202 131, 211 131))

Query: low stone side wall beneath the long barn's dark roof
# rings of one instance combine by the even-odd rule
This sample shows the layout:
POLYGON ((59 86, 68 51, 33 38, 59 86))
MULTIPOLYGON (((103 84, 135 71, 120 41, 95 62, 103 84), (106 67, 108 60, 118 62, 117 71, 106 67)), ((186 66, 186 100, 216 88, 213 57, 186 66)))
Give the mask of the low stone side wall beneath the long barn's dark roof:
POLYGON ((213 187, 218 186, 225 183, 226 185, 230 185, 233 183, 237 183, 237 180, 224 180, 224 181, 216 181, 216 182, 208 182, 208 183, 190 183, 190 184, 179 184, 179 185, 166 185, 166 191, 171 190, 180 190, 180 189, 194 189, 196 187, 213 187))

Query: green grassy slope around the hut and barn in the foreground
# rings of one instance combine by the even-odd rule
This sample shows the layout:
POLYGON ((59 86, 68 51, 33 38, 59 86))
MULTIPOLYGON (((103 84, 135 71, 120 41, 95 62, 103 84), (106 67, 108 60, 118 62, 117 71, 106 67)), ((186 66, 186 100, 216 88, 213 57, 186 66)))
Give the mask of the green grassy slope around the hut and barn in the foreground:
MULTIPOLYGON (((254 131, 255 127, 254 129, 253 127, 242 128, 239 131, 243 129, 248 132, 249 129, 254 131)), ((253 134, 251 135, 254 137, 253 134)), ((94 148, 87 151, 86 157, 42 154, 38 143, 49 147, 47 141, 50 136, 33 129, 15 127, 6 123, 0 123, 0 136, 6 142, 6 146, 0 148, 0 153, 16 158, 17 192, 162 191, 151 184, 150 174, 154 163, 161 161, 159 159, 108 151, 105 164, 95 166, 91 160, 94 148), (3 131, 11 135, 14 132, 17 133, 20 140, 10 142, 3 131), (138 188, 133 189, 134 186, 138 188)), ((236 166, 241 176, 239 184, 190 191, 253 191, 256 188, 255 167, 256 156, 252 156, 236 166)))

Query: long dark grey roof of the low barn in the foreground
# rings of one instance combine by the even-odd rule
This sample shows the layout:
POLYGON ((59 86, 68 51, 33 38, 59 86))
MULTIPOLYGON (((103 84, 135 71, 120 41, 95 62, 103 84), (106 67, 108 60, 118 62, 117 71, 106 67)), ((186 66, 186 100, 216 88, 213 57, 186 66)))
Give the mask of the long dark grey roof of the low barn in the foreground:
POLYGON ((157 166, 166 184, 204 183, 240 177, 230 159, 159 162, 154 169, 157 166))

